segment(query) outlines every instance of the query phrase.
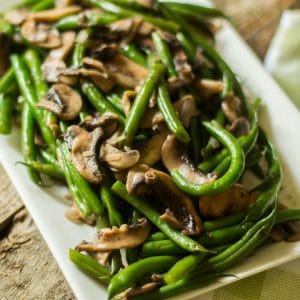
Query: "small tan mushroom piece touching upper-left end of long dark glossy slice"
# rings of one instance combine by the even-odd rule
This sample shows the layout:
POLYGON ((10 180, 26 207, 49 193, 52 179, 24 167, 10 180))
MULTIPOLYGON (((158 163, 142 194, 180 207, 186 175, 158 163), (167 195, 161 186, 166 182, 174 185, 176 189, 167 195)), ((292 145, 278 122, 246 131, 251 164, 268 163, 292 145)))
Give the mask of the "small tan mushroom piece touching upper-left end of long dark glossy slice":
POLYGON ((151 168, 147 165, 138 165, 129 170, 126 180, 127 192, 131 195, 145 195, 149 190, 145 182, 145 173, 151 168))

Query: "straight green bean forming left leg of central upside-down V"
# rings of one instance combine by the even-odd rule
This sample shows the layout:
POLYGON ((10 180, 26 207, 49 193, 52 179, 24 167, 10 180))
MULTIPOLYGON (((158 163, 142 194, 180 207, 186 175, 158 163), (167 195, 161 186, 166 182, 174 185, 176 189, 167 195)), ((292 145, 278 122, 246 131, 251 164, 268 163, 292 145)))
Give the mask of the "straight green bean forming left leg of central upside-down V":
POLYGON ((165 68, 162 64, 154 64, 149 72, 148 78, 143 83, 141 90, 139 91, 133 102, 124 128, 125 144, 127 146, 130 146, 132 144, 140 121, 143 118, 148 107, 150 97, 152 96, 154 89, 158 85, 164 71, 165 68))

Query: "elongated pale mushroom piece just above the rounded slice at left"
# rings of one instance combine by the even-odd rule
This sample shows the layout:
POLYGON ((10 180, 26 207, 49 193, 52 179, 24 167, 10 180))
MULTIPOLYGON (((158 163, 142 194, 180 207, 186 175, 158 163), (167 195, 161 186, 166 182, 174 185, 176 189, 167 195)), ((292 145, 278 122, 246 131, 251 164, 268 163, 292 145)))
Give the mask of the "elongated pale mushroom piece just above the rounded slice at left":
POLYGON ((61 38, 61 47, 51 50, 42 65, 44 78, 48 82, 57 82, 58 76, 66 68, 64 60, 74 46, 76 34, 72 31, 66 31, 62 33, 61 38))

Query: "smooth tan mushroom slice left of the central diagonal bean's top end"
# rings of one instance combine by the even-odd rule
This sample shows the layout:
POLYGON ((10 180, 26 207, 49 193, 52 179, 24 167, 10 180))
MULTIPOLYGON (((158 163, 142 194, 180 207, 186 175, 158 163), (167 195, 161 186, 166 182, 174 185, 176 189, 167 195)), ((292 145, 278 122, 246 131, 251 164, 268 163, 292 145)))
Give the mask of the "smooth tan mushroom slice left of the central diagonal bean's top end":
POLYGON ((122 54, 117 54, 111 61, 107 62, 106 67, 116 83, 125 89, 134 89, 148 75, 148 70, 145 67, 122 54))

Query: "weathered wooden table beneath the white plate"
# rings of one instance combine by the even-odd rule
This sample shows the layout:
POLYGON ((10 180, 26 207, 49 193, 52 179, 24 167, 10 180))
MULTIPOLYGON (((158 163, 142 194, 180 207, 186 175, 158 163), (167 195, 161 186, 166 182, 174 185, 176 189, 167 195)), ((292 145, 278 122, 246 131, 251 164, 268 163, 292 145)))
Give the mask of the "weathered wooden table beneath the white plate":
MULTIPOLYGON (((232 18, 260 58, 266 53, 282 11, 300 8, 300 0, 215 0, 215 3, 232 18)), ((3 225, 0 226, 0 299, 75 299, 1 167, 0 182, 3 225)))

